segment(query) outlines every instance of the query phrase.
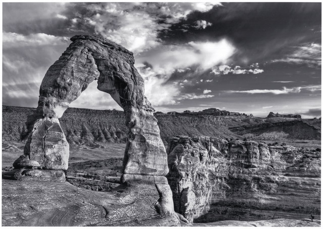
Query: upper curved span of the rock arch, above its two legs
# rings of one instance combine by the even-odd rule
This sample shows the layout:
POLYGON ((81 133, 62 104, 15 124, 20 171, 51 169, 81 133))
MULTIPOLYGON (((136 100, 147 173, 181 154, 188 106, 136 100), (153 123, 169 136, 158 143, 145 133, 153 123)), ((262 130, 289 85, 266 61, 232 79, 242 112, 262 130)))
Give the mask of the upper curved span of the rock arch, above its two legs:
MULTIPOLYGON (((119 44, 98 36, 76 35, 46 72, 39 90, 39 116, 61 118, 72 101, 88 84, 97 80, 98 89, 112 95, 126 111, 142 106, 144 81, 136 68, 133 53, 119 44)), ((153 110, 149 102, 148 109, 153 110)))

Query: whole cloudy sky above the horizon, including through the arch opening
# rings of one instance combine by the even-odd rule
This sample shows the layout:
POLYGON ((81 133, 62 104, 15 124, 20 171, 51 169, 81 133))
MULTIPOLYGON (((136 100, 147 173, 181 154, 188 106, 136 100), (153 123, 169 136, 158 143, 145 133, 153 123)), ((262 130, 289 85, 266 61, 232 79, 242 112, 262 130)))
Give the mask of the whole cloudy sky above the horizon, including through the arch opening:
MULTIPOLYGON (((76 34, 134 52, 157 111, 320 117, 321 3, 3 3, 3 105, 36 107, 76 34)), ((71 106, 120 109, 96 86, 71 106)))

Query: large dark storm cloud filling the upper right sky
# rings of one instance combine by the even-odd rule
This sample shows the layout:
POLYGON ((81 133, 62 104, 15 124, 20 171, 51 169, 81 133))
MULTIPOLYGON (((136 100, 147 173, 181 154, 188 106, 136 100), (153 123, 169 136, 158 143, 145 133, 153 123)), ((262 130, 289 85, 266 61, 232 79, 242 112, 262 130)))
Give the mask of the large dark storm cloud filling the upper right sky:
POLYGON ((320 30, 320 3, 223 3, 205 13, 191 13, 160 37, 168 43, 226 37, 239 49, 237 63, 244 64, 277 59, 286 54, 285 47, 320 43, 320 30), (212 25, 203 30, 185 26, 188 32, 181 31, 197 20, 212 25))

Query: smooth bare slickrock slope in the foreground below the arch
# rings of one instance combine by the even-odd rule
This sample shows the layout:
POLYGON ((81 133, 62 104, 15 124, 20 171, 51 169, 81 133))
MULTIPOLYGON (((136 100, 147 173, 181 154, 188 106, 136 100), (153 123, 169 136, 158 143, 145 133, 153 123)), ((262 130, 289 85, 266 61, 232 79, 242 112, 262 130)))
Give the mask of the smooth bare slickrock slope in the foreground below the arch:
POLYGON ((155 211, 159 196, 150 184, 95 192, 68 182, 3 179, 2 195, 3 226, 186 225, 175 215, 155 211))

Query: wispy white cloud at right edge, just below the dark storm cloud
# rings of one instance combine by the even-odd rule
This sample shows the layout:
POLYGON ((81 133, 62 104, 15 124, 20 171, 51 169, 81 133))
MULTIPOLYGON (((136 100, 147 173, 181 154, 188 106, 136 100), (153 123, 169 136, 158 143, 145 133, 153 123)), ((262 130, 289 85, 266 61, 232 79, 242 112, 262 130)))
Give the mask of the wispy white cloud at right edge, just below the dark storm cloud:
POLYGON ((272 62, 287 62, 291 64, 305 64, 315 68, 321 66, 321 45, 316 43, 305 43, 303 46, 294 47, 294 51, 283 59, 272 62))

